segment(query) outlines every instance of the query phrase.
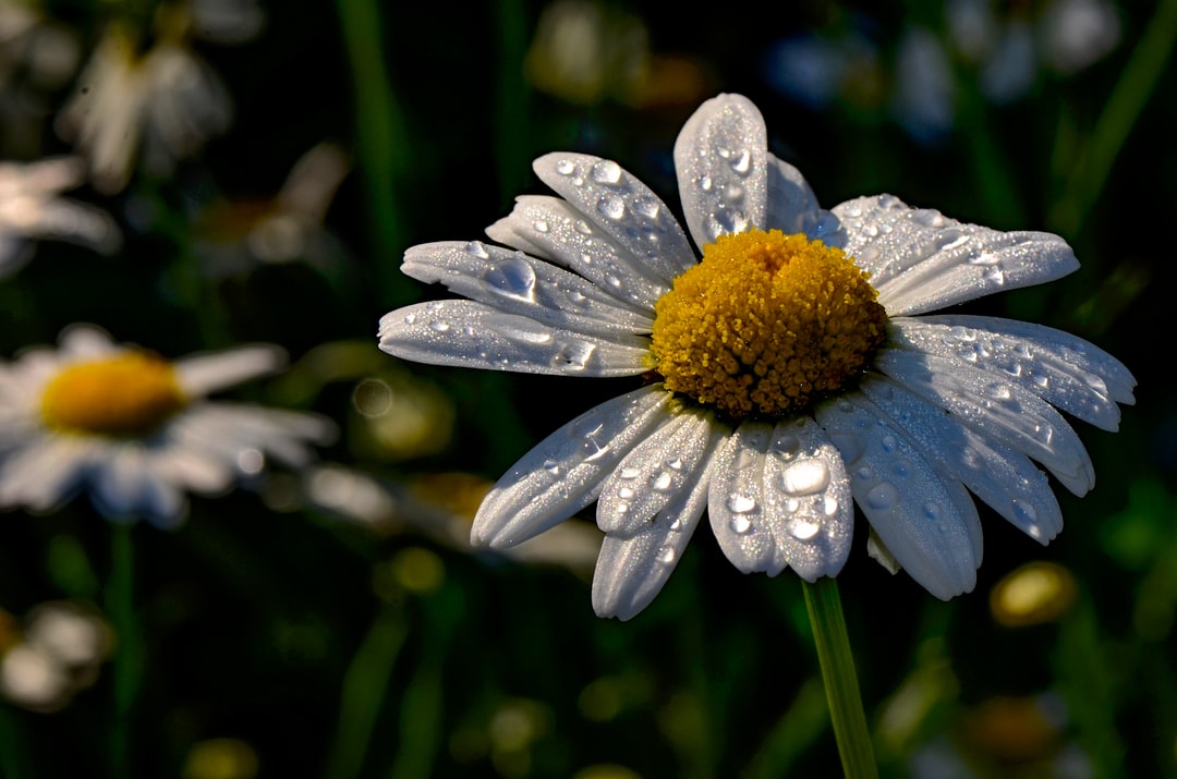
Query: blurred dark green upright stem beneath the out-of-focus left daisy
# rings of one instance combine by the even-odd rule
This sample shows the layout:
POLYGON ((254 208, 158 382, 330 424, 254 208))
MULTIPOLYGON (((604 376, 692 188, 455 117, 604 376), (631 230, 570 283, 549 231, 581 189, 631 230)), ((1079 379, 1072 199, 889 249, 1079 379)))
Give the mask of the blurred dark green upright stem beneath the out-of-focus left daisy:
POLYGON ((111 775, 129 777, 131 710, 144 672, 144 644, 134 601, 133 526, 111 522, 111 573, 106 585, 106 613, 118 646, 114 653, 114 717, 111 720, 111 775))

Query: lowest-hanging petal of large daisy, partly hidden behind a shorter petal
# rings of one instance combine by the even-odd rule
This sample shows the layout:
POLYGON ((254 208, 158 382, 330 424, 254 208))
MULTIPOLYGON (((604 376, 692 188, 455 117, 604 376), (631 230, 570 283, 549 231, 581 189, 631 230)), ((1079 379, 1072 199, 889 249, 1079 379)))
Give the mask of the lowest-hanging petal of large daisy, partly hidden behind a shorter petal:
POLYGON ((673 493, 640 532, 605 535, 592 579, 592 605, 598 615, 630 619, 661 592, 707 507, 710 460, 711 451, 700 464, 699 478, 673 493))

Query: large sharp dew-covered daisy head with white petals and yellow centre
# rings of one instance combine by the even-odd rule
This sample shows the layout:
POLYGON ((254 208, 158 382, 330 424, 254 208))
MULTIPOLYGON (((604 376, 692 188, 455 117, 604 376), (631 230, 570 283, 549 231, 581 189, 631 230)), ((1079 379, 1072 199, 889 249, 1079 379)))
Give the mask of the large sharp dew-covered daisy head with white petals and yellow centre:
POLYGON ((842 570, 857 504, 872 554, 943 599, 972 590, 980 565, 970 492, 1043 544, 1058 533, 1035 462, 1076 494, 1095 479, 1058 410, 1115 430, 1131 374, 1056 329, 926 314, 1070 273, 1063 239, 891 195, 823 211, 739 95, 690 118, 674 164, 701 259, 645 185, 574 153, 536 160, 559 198, 523 197, 487 229, 518 251, 407 251, 405 273, 470 300, 386 314, 386 352, 650 380, 525 454, 479 508, 476 544, 512 546, 597 501, 593 606, 627 619, 704 510, 740 571, 813 581, 842 570))

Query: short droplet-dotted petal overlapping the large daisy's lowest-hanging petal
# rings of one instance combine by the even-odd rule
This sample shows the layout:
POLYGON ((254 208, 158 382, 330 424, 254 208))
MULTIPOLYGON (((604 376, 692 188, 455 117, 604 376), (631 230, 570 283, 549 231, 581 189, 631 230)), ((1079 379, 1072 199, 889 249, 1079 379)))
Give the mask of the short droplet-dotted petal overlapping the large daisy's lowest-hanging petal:
POLYGON ((633 535, 687 485, 717 442, 712 414, 689 408, 670 417, 621 459, 605 480, 597 504, 597 526, 614 535, 633 535))

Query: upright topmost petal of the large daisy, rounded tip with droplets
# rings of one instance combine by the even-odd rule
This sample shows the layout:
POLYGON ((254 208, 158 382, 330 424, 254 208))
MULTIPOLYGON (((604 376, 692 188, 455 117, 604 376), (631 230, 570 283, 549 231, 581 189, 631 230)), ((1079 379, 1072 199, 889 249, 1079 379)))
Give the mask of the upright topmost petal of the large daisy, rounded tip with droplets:
POLYGON ((725 233, 765 228, 767 132, 747 98, 722 94, 699 106, 674 142, 674 169, 686 224, 700 249, 725 233))

